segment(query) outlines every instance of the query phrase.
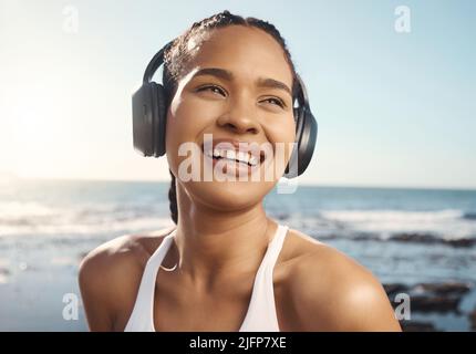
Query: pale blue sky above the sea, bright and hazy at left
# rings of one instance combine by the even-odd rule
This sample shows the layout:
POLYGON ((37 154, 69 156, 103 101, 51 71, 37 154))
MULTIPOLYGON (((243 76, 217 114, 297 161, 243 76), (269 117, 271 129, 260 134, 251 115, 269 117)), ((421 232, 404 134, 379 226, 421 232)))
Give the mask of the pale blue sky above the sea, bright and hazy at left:
POLYGON ((164 44, 223 10, 288 43, 319 124, 300 183, 476 188, 472 0, 0 0, 0 176, 169 180, 165 157, 133 149, 131 95, 164 44))

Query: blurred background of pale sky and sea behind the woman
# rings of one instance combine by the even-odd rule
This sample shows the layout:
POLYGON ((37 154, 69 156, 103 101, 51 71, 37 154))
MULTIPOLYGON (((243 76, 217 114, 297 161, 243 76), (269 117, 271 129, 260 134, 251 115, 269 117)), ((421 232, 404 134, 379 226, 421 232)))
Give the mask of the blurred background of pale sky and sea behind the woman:
POLYGON ((0 330, 87 330, 84 254, 173 225, 166 159, 132 146, 131 94, 164 44, 223 10, 278 28, 319 122, 270 216, 370 268, 394 305, 408 293, 405 330, 475 331, 470 0, 0 0, 0 330))

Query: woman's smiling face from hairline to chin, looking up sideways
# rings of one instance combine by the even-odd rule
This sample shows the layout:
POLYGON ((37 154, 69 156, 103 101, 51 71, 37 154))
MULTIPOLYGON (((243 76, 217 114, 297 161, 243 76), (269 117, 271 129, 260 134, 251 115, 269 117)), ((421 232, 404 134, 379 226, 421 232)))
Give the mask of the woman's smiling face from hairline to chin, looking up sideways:
POLYGON ((169 168, 195 201, 219 210, 253 206, 282 176, 292 150, 291 69, 279 43, 256 28, 213 30, 195 50, 167 112, 169 168), (230 144, 217 145, 223 139, 230 144), (241 147, 234 147, 232 140, 241 147), (179 154, 180 146, 188 153, 179 154), (253 167, 232 163, 238 168, 234 169, 227 165, 230 160, 207 156, 217 147, 230 158, 226 155, 230 149, 236 148, 235 154, 250 149, 259 163, 253 167), (190 163, 198 179, 195 175, 185 181, 192 176, 190 163), (207 168, 211 176, 205 176, 207 168))

